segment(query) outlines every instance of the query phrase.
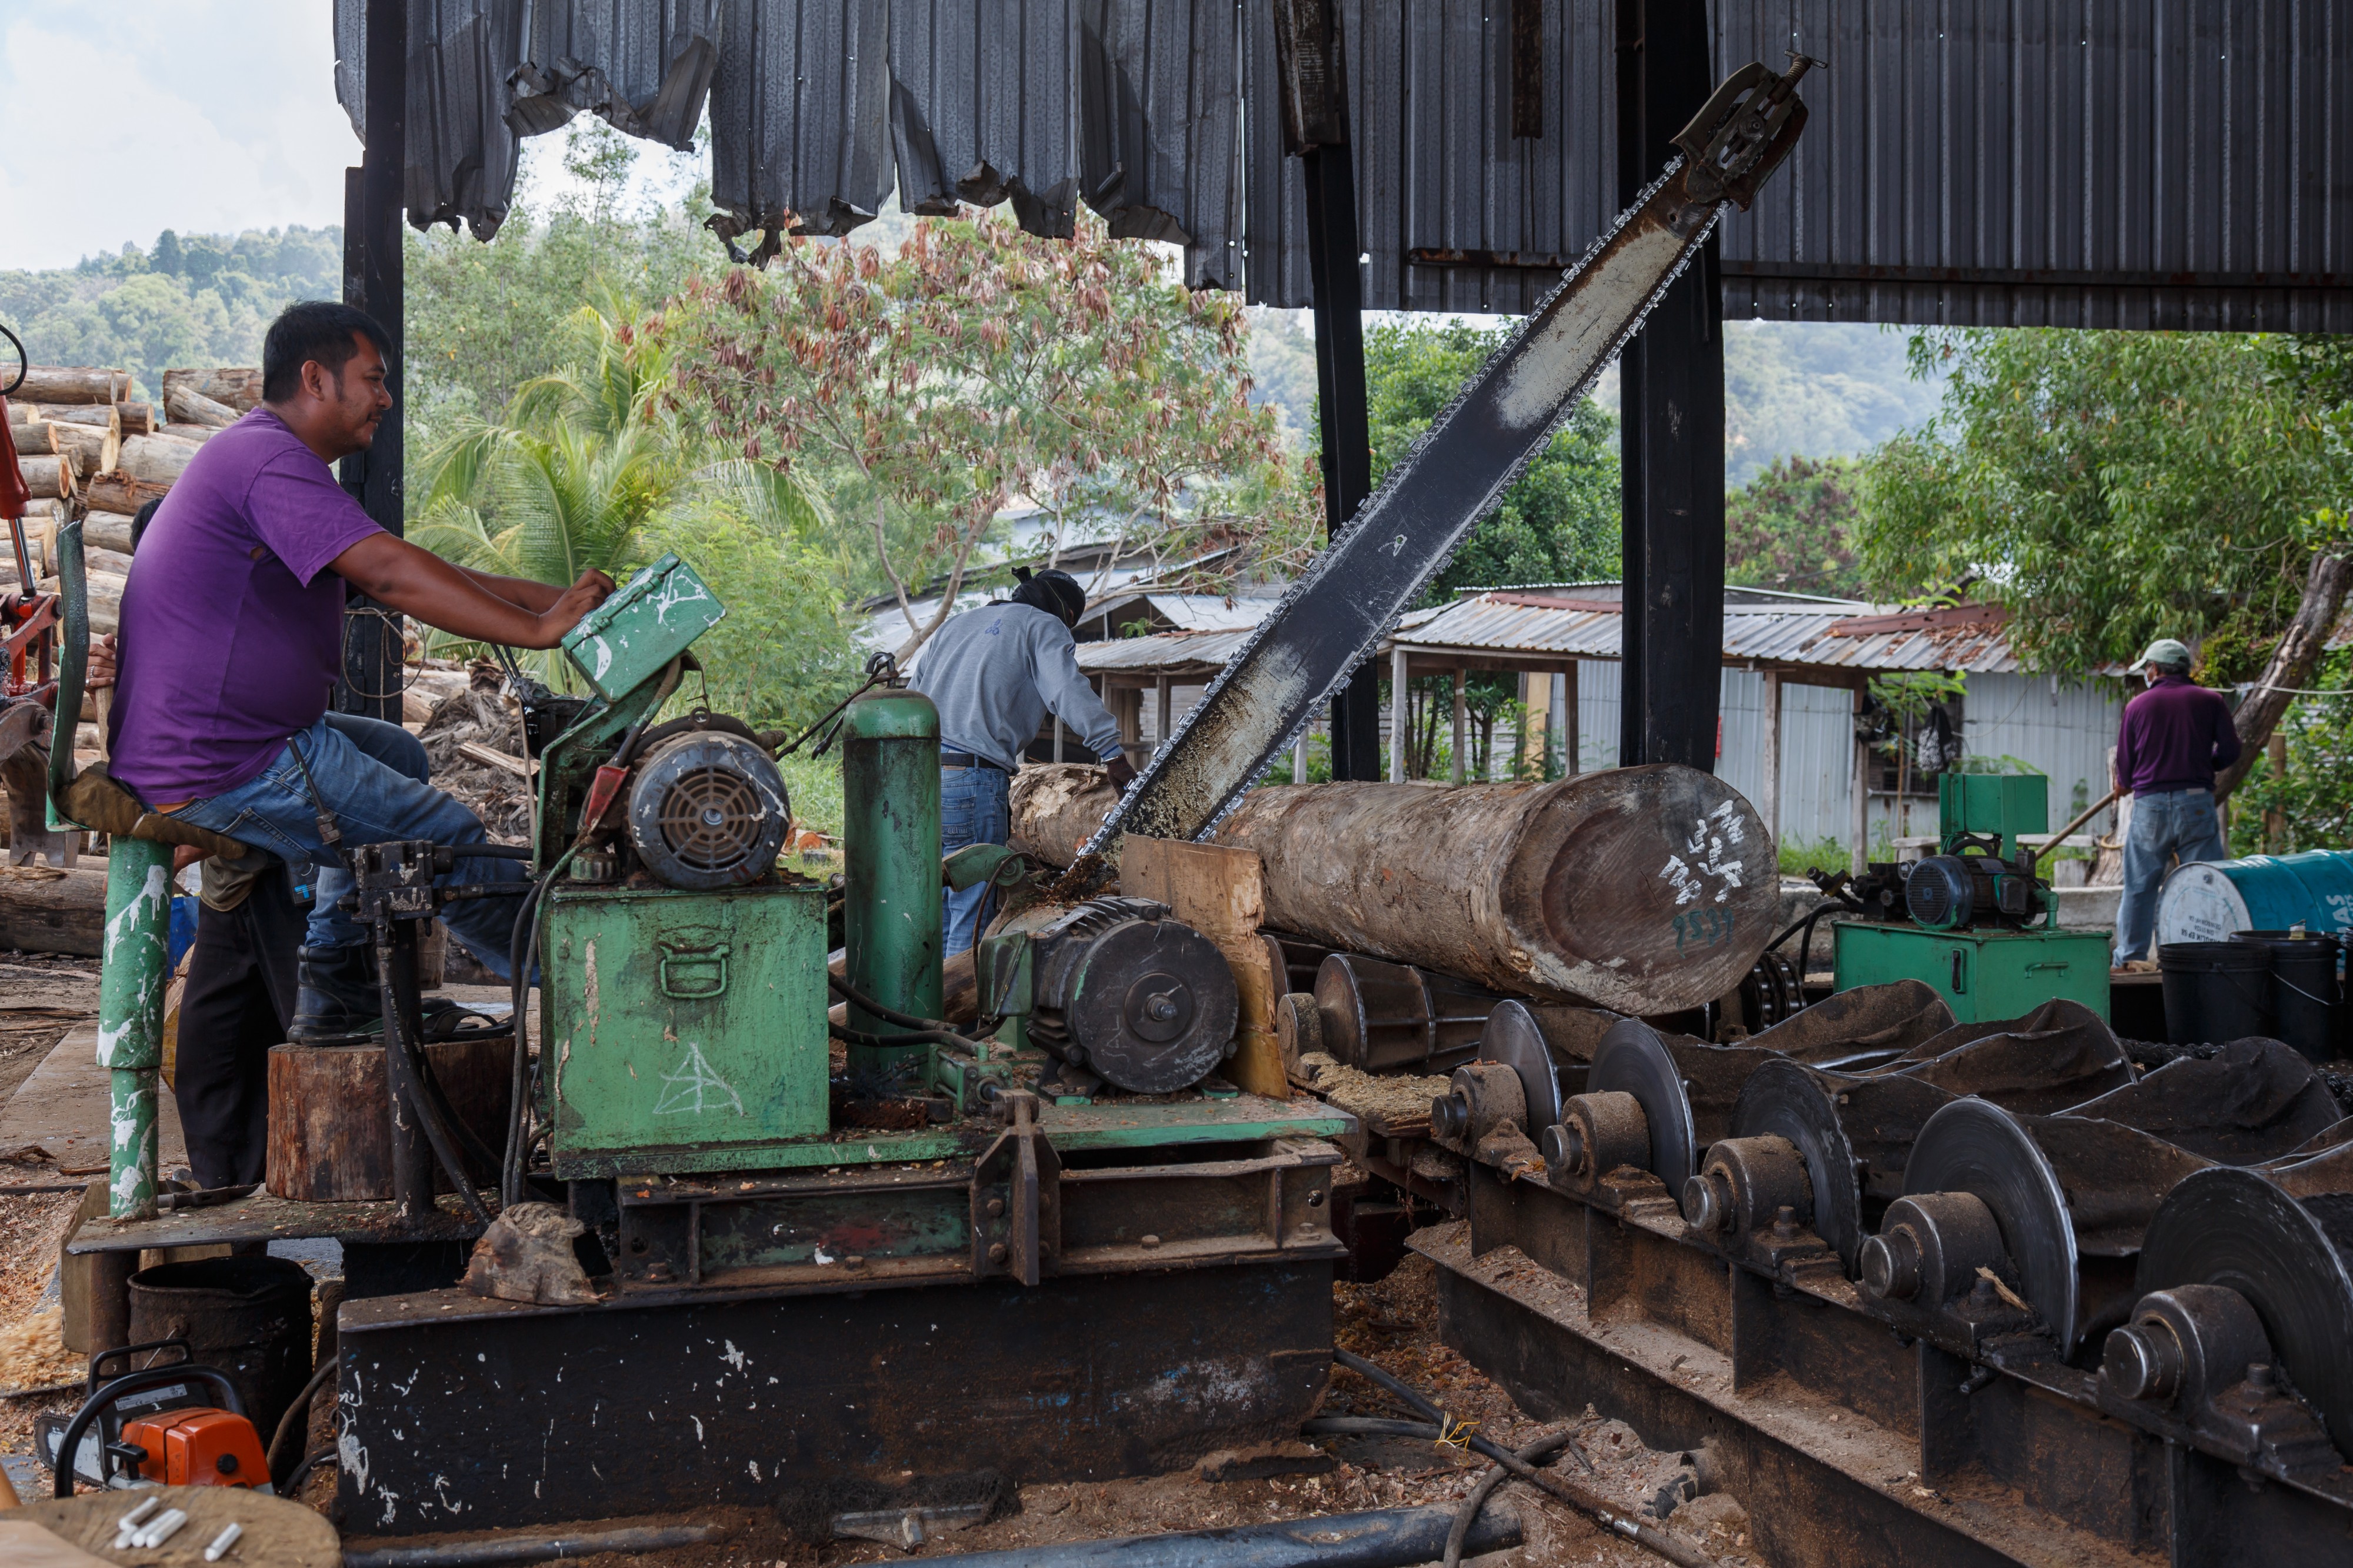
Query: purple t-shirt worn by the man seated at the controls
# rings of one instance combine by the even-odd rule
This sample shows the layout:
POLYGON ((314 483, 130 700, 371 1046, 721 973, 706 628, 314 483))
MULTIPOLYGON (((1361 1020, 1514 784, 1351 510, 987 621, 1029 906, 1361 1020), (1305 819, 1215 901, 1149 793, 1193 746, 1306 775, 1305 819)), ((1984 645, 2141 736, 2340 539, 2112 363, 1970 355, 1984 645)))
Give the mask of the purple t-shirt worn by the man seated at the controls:
POLYGON ((155 509, 122 586, 111 772, 148 805, 245 784, 327 711, 344 579, 381 532, 278 414, 205 443, 155 509))

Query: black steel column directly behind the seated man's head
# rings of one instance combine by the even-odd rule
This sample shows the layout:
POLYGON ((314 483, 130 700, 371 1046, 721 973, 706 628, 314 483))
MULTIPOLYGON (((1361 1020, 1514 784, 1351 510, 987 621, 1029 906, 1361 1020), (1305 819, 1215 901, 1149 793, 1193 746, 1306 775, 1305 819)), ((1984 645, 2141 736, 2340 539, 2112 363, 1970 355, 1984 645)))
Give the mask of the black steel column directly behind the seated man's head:
MULTIPOLYGON (((367 452, 341 464, 344 490, 391 532, 402 530, 402 417, 407 339, 402 330, 402 177, 409 118, 409 2, 367 0, 367 151, 344 170, 344 301, 360 306, 393 339, 386 386, 393 412, 376 426, 367 452)), ((344 619, 344 680, 334 687, 341 713, 400 720, 400 622, 374 600, 353 596, 344 619)))

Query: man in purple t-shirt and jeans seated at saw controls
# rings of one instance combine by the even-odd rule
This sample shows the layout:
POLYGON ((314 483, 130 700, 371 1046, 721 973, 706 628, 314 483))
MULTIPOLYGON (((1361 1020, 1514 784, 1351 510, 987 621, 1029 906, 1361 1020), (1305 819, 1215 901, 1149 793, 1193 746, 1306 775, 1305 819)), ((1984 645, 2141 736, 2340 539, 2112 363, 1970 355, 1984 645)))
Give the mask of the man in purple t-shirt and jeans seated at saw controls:
MULTIPOLYGON (((111 770, 153 810, 285 859, 320 862, 289 1038, 381 1026, 367 932, 336 902, 351 876, 320 836, 482 843, 482 822, 327 723, 344 666, 346 584, 478 643, 555 647, 612 593, 454 567, 376 527, 327 469, 365 452, 393 407, 388 339, 341 304, 289 306, 261 346, 261 407, 205 443, 148 525, 122 586, 111 770)), ((461 859, 447 881, 515 881, 461 859)), ((449 906, 449 930, 506 975, 513 899, 449 906)))

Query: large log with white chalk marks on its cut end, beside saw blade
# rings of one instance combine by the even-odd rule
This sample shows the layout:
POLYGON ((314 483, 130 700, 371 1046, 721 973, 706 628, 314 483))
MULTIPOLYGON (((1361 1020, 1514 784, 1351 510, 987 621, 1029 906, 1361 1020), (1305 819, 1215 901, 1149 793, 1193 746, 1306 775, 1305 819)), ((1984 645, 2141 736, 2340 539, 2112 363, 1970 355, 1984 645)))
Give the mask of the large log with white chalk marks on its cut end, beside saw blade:
POLYGON ((1245 796, 1217 843, 1259 852, 1275 930, 1612 1012, 1722 996, 1781 909, 1772 833, 1694 768, 1280 784, 1245 796))

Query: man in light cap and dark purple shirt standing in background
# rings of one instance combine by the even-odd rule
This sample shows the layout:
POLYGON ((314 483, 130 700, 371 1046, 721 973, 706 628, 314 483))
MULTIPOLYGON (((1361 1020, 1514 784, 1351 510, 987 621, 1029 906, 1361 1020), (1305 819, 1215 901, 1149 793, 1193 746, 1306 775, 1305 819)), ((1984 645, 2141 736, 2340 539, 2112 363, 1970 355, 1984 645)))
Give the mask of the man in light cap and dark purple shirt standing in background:
POLYGON ((2184 862, 2228 859, 2214 815, 2214 772, 2238 760, 2231 704, 2191 680, 2188 647, 2158 638, 2137 669, 2148 690, 2125 704, 2115 737, 2115 782, 2132 796, 2115 968, 2148 958, 2167 862, 2177 855, 2184 862))

